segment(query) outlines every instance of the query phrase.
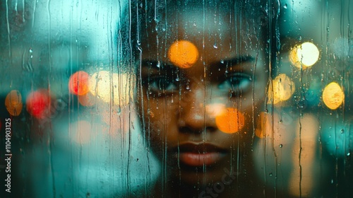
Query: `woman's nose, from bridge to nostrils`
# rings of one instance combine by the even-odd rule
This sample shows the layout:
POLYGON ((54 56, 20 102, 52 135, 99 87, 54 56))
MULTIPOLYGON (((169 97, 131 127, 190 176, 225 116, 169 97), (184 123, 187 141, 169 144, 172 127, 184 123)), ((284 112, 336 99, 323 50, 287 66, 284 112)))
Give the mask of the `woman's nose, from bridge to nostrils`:
POLYGON ((206 91, 204 87, 191 88, 181 98, 179 132, 196 133, 215 132, 217 125, 213 116, 206 111, 206 91))

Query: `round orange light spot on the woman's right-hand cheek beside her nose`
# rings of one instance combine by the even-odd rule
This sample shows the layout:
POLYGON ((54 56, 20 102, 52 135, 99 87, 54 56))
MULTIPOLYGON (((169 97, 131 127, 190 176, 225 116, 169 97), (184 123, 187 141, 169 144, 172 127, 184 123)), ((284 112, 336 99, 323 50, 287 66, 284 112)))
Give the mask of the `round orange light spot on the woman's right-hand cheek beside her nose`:
POLYGON ((244 115, 233 107, 228 107, 225 112, 215 118, 218 129, 227 134, 239 132, 245 123, 244 115))

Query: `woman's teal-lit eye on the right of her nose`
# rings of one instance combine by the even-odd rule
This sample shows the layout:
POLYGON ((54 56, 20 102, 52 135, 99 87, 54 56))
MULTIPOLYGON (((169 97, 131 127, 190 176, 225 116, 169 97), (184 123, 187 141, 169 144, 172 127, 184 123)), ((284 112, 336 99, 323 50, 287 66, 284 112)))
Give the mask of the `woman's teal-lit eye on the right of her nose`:
POLYGON ((218 85, 218 88, 239 95, 251 90, 251 82, 251 75, 237 72, 225 77, 224 81, 218 85))

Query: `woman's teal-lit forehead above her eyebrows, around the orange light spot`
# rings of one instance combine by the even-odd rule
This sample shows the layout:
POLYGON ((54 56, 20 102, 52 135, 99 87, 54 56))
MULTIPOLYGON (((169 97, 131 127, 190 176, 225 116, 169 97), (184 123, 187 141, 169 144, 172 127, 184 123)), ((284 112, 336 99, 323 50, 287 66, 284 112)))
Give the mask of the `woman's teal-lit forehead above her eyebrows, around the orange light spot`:
POLYGON ((145 54, 149 57, 165 54, 177 40, 193 42, 201 56, 246 54, 245 51, 258 48, 262 40, 254 16, 244 13, 232 5, 165 5, 157 8, 151 22, 145 25, 141 44, 148 47, 145 54))

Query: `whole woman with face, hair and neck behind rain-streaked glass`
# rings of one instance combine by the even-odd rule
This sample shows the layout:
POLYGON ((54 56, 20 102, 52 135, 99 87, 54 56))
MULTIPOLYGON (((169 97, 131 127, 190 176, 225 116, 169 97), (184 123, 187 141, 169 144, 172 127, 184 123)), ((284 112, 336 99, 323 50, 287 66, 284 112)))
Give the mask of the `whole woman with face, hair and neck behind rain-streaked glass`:
POLYGON ((134 6, 137 105, 162 165, 147 196, 263 197, 252 161, 270 75, 263 2, 134 6))

